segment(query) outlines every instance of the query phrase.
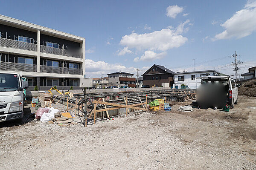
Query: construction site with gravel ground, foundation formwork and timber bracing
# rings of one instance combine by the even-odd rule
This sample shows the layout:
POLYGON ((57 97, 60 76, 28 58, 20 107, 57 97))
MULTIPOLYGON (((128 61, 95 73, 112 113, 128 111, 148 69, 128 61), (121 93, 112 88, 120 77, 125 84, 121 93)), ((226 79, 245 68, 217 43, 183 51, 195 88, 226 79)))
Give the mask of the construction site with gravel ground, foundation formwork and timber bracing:
POLYGON ((52 120, 37 121, 27 101, 21 123, 2 122, 3 169, 256 168, 255 97, 224 112, 194 106, 190 89, 87 90, 84 115, 84 93, 71 91, 39 93, 42 108, 58 109, 52 120))

